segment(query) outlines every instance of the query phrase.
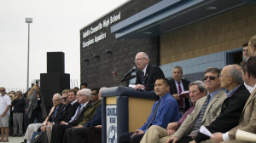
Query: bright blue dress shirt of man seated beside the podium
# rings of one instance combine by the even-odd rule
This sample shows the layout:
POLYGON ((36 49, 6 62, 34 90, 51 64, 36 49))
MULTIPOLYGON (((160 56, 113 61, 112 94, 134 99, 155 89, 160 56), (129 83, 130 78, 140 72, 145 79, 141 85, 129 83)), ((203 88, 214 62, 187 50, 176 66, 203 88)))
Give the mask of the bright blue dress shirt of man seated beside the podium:
MULTIPOLYGON (((156 116, 154 117, 154 120, 152 121, 152 125, 158 125, 164 129, 166 129, 168 123, 177 122, 180 114, 178 112, 178 106, 177 101, 174 99, 174 97, 168 92, 164 96, 160 98, 161 102, 160 105, 157 108, 156 116)), ((152 111, 150 116, 148 117, 147 123, 143 125, 142 128, 139 130, 143 130, 144 132, 147 131, 148 123, 150 122, 153 114, 154 109, 157 105, 158 101, 154 102, 154 105, 152 107, 152 111)))

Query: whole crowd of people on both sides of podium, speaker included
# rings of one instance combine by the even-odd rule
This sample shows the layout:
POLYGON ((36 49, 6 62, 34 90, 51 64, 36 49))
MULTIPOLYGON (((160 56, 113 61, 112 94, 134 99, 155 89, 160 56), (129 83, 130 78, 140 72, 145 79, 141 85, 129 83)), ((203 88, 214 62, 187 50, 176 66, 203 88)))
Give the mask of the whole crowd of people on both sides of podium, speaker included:
MULTIPOLYGON (((158 66, 149 63, 146 53, 139 52, 134 89, 154 90, 158 100, 147 122, 134 132, 119 134, 119 143, 246 142, 236 140, 236 132, 241 129, 256 134, 256 36, 243 45, 243 57, 241 65, 222 70, 208 67, 203 82, 189 82, 183 79, 181 66, 172 68, 172 79, 168 80, 158 66), (202 133, 202 126, 212 136, 202 133), (191 135, 195 130, 199 131, 191 135)), ((37 140, 35 132, 44 134, 40 142, 45 143, 102 142, 102 89, 87 88, 87 83, 82 83, 80 89, 53 94, 53 106, 46 115, 37 84, 27 95, 6 93, 0 87, 0 141, 9 141, 11 116, 13 136, 25 134, 26 143, 37 140), (27 128, 25 122, 30 123, 27 128)))

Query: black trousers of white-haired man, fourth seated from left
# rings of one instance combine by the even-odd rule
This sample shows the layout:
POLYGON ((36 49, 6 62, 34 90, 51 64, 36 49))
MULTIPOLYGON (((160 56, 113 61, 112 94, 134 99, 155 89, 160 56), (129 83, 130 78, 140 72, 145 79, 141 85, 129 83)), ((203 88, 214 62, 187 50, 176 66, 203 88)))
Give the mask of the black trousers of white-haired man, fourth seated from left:
POLYGON ((55 143, 62 143, 65 130, 72 127, 73 126, 66 124, 55 125, 55 130, 53 130, 55 132, 55 143))

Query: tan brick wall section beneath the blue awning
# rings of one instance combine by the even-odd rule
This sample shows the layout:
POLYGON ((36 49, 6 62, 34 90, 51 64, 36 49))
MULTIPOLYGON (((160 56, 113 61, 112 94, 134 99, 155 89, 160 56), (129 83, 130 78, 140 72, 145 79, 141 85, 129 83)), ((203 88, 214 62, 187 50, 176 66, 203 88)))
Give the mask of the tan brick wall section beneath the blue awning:
POLYGON ((256 5, 216 15, 160 37, 160 65, 236 49, 256 35, 256 5))

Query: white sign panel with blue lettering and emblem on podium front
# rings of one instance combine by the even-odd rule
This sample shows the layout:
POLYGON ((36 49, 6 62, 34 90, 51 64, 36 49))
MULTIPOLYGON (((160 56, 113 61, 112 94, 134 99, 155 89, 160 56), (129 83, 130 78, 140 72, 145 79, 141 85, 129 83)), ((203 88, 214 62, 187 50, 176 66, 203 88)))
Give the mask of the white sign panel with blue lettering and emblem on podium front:
POLYGON ((107 143, 117 143, 116 105, 106 106, 107 143))

